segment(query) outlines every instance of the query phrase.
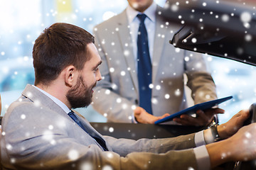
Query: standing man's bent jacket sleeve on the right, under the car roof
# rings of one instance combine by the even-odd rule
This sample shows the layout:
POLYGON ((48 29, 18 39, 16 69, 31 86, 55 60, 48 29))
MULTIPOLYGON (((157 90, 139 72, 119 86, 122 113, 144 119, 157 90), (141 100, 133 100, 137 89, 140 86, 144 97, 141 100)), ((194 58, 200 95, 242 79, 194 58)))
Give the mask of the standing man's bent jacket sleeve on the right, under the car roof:
POLYGON ((191 89, 191 96, 195 104, 216 99, 215 83, 206 69, 203 56, 196 52, 186 51, 185 53, 187 86, 191 89))

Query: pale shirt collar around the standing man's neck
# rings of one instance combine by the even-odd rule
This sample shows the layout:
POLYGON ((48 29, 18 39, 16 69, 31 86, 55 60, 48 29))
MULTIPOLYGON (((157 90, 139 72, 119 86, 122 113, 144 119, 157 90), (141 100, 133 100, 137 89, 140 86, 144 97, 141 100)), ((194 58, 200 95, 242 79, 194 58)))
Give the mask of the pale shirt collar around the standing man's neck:
MULTIPOLYGON (((156 2, 153 1, 151 6, 149 6, 149 8, 147 8, 146 11, 143 12, 153 22, 156 21, 156 7, 157 7, 156 2)), ((129 23, 132 23, 136 18, 137 14, 140 13, 139 11, 136 11, 134 8, 132 8, 132 6, 129 6, 129 5, 127 6, 126 12, 127 12, 129 23)))

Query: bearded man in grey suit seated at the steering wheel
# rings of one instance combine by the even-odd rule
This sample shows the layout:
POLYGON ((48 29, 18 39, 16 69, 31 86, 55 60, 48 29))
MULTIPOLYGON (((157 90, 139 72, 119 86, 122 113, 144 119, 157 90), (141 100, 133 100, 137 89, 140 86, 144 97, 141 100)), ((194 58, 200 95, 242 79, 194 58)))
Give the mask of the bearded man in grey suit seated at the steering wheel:
POLYGON ((93 42, 90 33, 68 23, 55 23, 36 39, 35 85, 26 86, 2 120, 4 169, 210 169, 255 157, 250 142, 255 141, 256 124, 241 128, 248 111, 181 137, 135 141, 100 135, 71 110, 88 106, 93 87, 102 79, 102 60, 93 42), (213 142, 215 132, 221 139, 237 133, 203 145, 213 142), (247 143, 245 132, 250 134, 247 143))

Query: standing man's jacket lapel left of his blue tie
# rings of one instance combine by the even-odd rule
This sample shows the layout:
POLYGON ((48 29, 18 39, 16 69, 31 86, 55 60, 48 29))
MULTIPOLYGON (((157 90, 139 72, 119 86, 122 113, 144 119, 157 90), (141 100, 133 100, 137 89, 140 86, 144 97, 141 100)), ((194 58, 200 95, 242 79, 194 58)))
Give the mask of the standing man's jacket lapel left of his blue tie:
POLYGON ((132 77, 132 82, 134 84, 135 90, 138 89, 138 78, 137 78, 137 69, 134 63, 134 51, 132 47, 132 37, 130 36, 130 30, 128 26, 128 19, 126 11, 124 10, 117 16, 117 27, 119 28, 118 37, 120 45, 122 46, 122 51, 125 55, 125 61, 127 66, 129 66, 129 74, 132 77), (127 27, 128 26, 128 27, 127 27), (128 38, 124 35, 129 35, 128 38))

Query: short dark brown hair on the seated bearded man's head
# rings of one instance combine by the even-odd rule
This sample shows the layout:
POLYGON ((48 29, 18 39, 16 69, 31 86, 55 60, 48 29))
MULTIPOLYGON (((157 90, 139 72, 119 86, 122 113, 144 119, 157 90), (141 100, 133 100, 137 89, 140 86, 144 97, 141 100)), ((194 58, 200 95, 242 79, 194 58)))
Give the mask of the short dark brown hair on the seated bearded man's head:
POLYGON ((87 44, 90 43, 94 43, 94 37, 78 26, 54 23, 46 28, 33 45, 35 85, 40 82, 49 84, 71 64, 81 70, 90 60, 90 54, 87 54, 87 44))

